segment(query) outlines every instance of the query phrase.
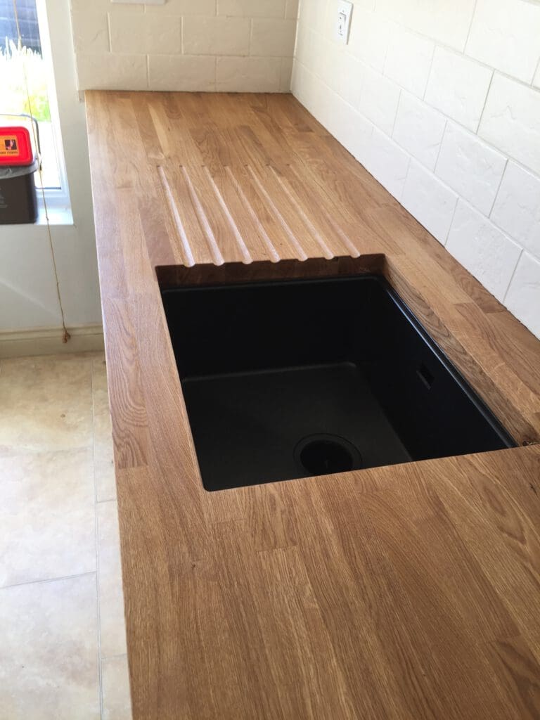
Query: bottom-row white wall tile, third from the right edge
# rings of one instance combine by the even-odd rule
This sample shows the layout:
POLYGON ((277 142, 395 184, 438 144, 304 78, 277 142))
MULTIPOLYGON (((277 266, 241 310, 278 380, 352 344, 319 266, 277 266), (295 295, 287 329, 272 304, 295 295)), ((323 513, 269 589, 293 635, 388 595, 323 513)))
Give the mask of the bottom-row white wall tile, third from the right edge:
POLYGON ((401 204, 441 243, 446 243, 457 195, 415 160, 410 161, 401 204))

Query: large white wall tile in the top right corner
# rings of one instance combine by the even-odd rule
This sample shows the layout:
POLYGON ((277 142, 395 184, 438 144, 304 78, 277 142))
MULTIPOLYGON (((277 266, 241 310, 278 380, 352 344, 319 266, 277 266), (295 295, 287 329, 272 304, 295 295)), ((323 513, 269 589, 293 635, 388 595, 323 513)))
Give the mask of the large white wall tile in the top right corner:
POLYGON ((540 4, 478 0, 467 55, 530 83, 540 57, 540 4))

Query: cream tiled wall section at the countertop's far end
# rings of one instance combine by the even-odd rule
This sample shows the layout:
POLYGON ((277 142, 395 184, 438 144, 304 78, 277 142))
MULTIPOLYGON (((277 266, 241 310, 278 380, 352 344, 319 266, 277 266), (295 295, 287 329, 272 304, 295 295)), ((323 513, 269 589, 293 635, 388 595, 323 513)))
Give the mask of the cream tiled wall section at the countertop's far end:
POLYGON ((298 0, 71 0, 79 89, 289 91, 298 0))

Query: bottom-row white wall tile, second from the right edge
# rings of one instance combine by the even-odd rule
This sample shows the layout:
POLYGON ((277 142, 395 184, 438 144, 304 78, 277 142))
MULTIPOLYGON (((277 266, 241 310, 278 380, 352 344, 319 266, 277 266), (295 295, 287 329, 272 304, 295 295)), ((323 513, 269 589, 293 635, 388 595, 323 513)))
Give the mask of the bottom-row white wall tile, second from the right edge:
POLYGON ((502 301, 521 248, 477 210, 459 200, 446 248, 502 301))

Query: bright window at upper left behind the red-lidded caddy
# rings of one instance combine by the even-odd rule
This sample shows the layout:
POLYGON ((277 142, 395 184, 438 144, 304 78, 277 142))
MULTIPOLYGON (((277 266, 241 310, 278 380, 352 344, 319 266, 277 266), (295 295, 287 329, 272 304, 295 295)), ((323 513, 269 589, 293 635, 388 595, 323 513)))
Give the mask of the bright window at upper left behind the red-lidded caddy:
MULTIPOLYGON (((42 181, 51 208, 69 206, 56 103, 53 63, 45 0, 17 0, 22 42, 17 35, 13 0, 0 0, 0 122, 26 125, 30 114, 37 120, 42 158, 42 181), (30 103, 28 97, 30 96, 30 103)), ((33 132, 30 129, 33 137, 33 132)), ((35 174, 40 187, 40 174, 35 174)), ((41 192, 38 198, 41 200, 41 192)))

